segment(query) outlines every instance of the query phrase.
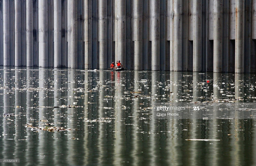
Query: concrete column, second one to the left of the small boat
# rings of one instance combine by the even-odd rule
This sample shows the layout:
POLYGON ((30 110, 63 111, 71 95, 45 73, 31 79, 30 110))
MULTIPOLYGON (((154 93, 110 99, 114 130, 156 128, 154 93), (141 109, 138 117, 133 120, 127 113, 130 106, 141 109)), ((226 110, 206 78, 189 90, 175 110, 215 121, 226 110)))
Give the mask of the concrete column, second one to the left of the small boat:
POLYGON ((91 0, 83 0, 83 14, 84 14, 84 53, 85 53, 85 65, 84 68, 88 69, 91 68, 91 0))

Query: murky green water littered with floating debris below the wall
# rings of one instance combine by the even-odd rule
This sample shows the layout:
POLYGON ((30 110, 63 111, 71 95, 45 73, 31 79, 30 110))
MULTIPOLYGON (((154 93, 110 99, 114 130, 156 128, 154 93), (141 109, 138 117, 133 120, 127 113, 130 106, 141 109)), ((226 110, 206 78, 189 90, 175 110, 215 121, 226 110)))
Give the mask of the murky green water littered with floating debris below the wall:
POLYGON ((254 102, 255 89, 255 74, 2 68, 0 159, 256 165, 255 119, 157 119, 152 109, 158 102, 254 102))

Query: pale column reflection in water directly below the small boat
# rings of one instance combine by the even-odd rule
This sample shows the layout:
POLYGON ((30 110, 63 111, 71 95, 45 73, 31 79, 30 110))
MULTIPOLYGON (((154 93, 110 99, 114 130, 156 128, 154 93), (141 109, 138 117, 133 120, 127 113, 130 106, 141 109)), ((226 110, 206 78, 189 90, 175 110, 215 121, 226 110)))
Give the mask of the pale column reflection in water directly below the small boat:
POLYGON ((124 141, 124 113, 125 108, 123 108, 122 105, 126 105, 125 98, 122 99, 122 96, 124 96, 124 87, 122 86, 122 80, 125 76, 126 72, 116 72, 115 75, 115 108, 114 108, 114 114, 115 114, 115 141, 114 141, 114 165, 120 165, 121 164, 121 157, 123 152, 123 147, 121 146, 124 141))

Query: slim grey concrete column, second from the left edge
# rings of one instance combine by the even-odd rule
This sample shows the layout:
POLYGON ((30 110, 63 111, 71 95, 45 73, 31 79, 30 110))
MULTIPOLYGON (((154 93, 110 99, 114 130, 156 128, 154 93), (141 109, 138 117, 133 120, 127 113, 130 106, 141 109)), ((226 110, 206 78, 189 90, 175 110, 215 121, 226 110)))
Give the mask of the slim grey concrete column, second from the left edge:
POLYGON ((21 65, 21 6, 20 0, 14 1, 14 58, 15 66, 21 65))

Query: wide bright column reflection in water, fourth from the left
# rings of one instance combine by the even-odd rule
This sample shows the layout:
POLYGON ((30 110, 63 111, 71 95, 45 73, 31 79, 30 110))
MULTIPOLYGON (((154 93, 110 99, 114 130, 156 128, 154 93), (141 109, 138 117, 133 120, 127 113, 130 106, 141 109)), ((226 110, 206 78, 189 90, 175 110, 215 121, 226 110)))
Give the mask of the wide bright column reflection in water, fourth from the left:
MULTIPOLYGON (((48 87, 48 70, 39 69, 39 125, 38 127, 45 127, 45 120, 48 120, 48 109, 43 108, 48 106, 48 92, 45 90, 48 87)), ((38 159, 39 163, 46 165, 47 160, 42 156, 45 156, 48 151, 46 149, 48 131, 39 130, 38 132, 38 159)))

